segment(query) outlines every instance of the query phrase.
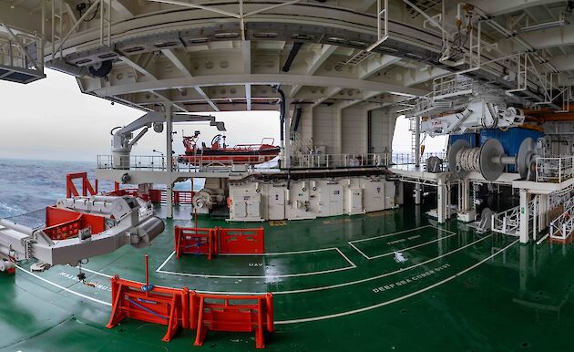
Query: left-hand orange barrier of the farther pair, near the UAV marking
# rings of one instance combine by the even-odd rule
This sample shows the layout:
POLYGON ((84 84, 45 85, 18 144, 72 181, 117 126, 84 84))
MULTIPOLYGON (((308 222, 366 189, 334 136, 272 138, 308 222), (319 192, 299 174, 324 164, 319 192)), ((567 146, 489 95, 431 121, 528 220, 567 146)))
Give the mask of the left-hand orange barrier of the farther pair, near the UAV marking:
POLYGON ((181 254, 207 254, 208 260, 218 253, 217 228, 175 227, 176 258, 181 254))

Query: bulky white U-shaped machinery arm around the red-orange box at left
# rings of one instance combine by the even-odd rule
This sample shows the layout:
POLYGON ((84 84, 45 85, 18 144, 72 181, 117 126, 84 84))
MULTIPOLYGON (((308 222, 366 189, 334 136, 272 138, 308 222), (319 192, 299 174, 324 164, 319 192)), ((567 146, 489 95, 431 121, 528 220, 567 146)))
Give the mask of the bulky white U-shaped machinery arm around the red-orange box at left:
POLYGON ((91 235, 87 229, 80 229, 77 237, 55 241, 42 229, 0 219, 0 271, 31 259, 50 266, 77 265, 83 259, 114 252, 125 244, 145 247, 165 228, 149 203, 135 197, 74 197, 60 200, 56 206, 102 215, 106 218, 106 230, 91 235))

